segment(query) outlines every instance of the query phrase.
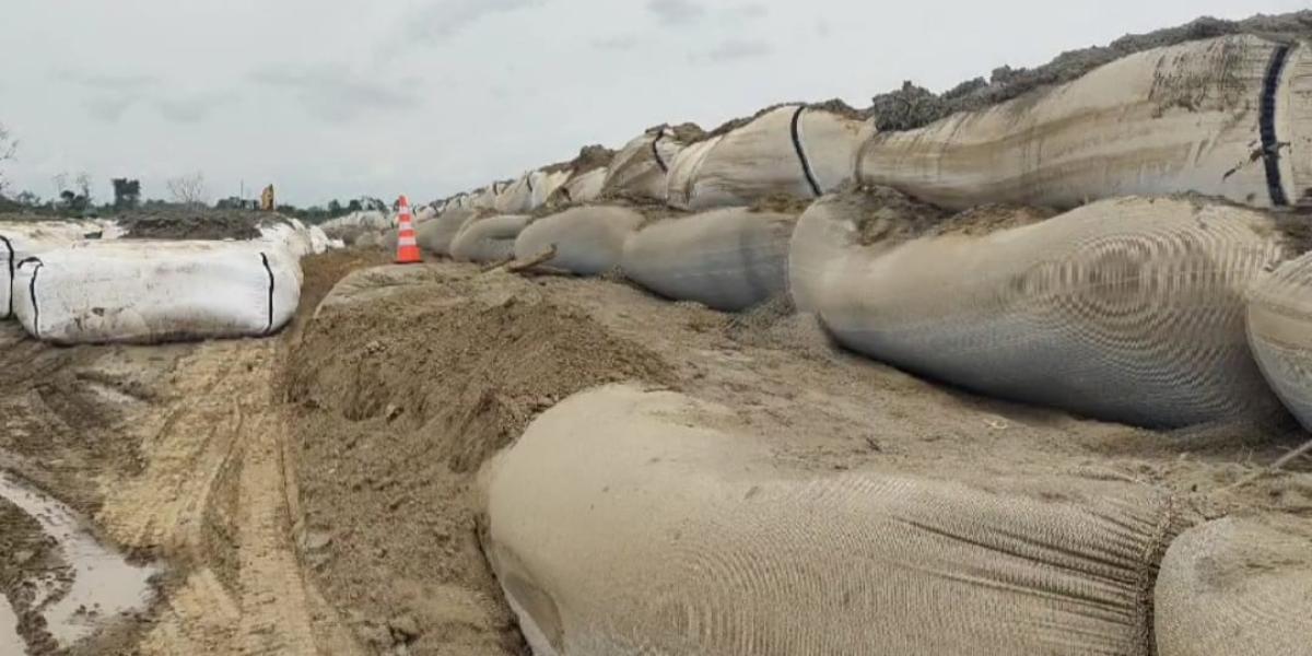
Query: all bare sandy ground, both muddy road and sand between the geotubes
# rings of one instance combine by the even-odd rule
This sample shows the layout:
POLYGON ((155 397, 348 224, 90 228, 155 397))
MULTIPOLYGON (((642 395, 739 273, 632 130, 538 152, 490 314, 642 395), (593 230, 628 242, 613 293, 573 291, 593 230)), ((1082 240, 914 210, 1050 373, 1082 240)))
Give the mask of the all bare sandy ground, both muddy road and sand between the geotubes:
MULTIPOLYGON (((0 324, 0 467, 167 565, 150 611, 75 653, 526 653, 478 546, 474 476, 611 380, 732 408, 800 472, 1092 471, 1204 516, 1312 517, 1307 461, 1236 487, 1300 434, 1161 434, 980 399, 837 352, 782 304, 733 318, 441 264, 356 277, 310 320, 382 260, 307 260, 302 312, 273 340, 52 349, 0 324)), ((60 564, 4 504, 0 529, 25 556, 0 559, 13 601, 60 564)))

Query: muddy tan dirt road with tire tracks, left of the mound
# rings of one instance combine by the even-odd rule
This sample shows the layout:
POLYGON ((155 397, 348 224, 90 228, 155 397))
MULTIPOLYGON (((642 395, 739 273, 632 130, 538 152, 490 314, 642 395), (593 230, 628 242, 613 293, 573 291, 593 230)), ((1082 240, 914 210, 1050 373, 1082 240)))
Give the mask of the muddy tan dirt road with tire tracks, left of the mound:
MULTIPOLYGON (((311 265, 307 304, 375 261, 325 256, 311 265)), ((306 581, 293 543, 297 493, 277 382, 294 332, 52 349, 0 327, 0 467, 67 500, 104 542, 167 568, 154 607, 112 619, 73 653, 361 652, 306 581)), ((0 516, 30 529, 21 513, 0 506, 0 516)), ((34 530, 5 539, 42 544, 34 530)), ((0 568, 0 590, 67 567, 58 554, 26 551, 24 567, 0 568)), ((31 653, 56 647, 41 631, 25 635, 31 653)))

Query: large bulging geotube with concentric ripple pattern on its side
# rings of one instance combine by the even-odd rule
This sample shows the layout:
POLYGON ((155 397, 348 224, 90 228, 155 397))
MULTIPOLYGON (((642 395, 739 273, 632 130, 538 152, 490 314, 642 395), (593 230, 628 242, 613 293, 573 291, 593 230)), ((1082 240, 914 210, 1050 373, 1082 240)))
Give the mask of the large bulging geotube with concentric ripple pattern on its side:
POLYGON ((976 392, 1136 425, 1281 413, 1249 353, 1244 298, 1299 248, 1275 218, 1123 198, 1046 220, 967 213, 897 235, 861 194, 812 205, 790 253, 799 308, 844 345, 976 392))

